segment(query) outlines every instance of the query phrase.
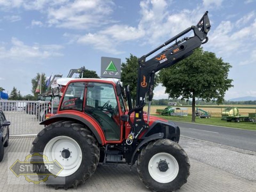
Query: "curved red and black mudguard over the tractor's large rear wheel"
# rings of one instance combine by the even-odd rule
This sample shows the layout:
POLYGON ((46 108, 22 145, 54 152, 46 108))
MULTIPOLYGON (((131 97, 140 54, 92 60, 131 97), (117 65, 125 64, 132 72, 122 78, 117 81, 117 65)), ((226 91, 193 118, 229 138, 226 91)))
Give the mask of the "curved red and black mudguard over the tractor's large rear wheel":
POLYGON ((54 116, 51 116, 49 118, 47 118, 46 120, 42 121, 40 123, 40 125, 49 125, 52 124, 54 122, 57 121, 62 121, 62 120, 76 120, 79 121, 83 124, 85 124, 94 134, 94 136, 96 137, 97 141, 102 145, 104 143, 104 140, 100 137, 100 134, 97 132, 97 130, 94 128, 94 126, 92 126, 92 124, 87 121, 86 119, 77 116, 77 115, 73 115, 73 114, 57 114, 54 116))

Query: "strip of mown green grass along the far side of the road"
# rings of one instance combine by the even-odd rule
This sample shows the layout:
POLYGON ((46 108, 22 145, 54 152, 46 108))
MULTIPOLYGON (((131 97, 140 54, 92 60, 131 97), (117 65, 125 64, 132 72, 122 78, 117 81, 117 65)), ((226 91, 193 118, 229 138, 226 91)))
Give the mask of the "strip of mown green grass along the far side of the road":
MULTIPOLYGON (((184 117, 162 116, 162 115, 154 115, 154 116, 158 116, 167 120, 181 121, 181 122, 191 122, 191 119, 192 119, 191 115, 184 116, 184 117)), ((256 124, 253 124, 252 122, 239 122, 239 123, 227 122, 227 121, 220 120, 220 117, 211 117, 210 119, 204 119, 204 118, 200 119, 199 117, 196 117, 196 123, 247 129, 247 130, 256 130, 256 124)))

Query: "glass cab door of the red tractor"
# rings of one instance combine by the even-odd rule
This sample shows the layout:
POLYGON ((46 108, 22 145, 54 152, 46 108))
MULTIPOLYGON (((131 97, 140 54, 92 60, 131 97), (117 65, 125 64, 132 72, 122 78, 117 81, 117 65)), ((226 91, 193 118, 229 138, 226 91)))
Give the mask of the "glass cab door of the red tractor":
POLYGON ((107 141, 121 140, 122 111, 113 84, 88 82, 84 112, 100 124, 107 141))

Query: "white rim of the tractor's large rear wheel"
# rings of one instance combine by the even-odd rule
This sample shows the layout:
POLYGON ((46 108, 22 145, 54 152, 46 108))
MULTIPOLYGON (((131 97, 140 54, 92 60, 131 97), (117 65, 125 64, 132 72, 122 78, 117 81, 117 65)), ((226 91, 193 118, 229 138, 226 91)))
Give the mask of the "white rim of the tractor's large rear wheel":
MULTIPOLYGON (((68 136, 57 136, 51 139, 45 145, 43 154, 48 157, 49 161, 56 159, 64 168, 58 174, 60 177, 66 177, 76 172, 81 165, 83 157, 79 144, 68 136), (65 156, 65 154, 67 154, 67 156, 65 156)), ((44 161, 46 160, 44 159, 44 161)), ((55 165, 58 166, 57 164, 55 165)), ((59 169, 51 169, 49 171, 56 175, 59 169)))

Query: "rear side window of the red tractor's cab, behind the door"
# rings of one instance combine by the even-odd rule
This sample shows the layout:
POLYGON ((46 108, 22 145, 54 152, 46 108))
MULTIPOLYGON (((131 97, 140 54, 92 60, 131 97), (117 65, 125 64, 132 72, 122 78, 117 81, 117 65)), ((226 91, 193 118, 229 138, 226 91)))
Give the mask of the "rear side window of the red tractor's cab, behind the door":
POLYGON ((60 110, 73 109, 82 111, 84 101, 85 82, 74 82, 68 85, 63 96, 60 110))

